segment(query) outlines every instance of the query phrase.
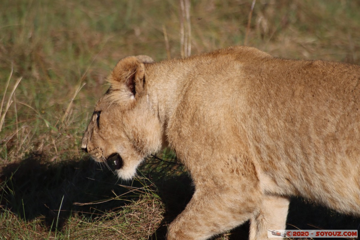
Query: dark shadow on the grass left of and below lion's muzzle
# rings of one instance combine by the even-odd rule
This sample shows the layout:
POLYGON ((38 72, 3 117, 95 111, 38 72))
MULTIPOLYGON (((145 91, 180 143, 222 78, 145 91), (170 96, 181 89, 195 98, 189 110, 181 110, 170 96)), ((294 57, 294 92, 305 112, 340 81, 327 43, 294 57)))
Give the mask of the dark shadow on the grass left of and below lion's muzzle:
POLYGON ((120 184, 143 186, 118 181, 110 169, 89 157, 50 162, 46 155, 32 153, 1 168, 0 210, 9 210, 25 221, 40 217, 46 228, 61 230, 71 214, 96 221, 139 198, 140 194, 129 193, 120 184))

